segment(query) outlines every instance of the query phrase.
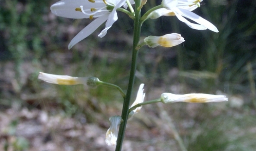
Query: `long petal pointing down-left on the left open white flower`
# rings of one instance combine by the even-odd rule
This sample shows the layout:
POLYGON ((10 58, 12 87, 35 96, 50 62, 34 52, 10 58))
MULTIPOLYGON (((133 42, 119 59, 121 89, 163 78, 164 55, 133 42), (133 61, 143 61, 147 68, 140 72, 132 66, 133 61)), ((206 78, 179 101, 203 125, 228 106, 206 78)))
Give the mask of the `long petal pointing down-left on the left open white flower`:
POLYGON ((93 33, 98 27, 103 24, 107 20, 108 14, 103 15, 94 21, 92 21, 89 25, 87 25, 82 31, 80 31, 69 43, 69 49, 72 48, 79 41, 87 38, 91 33, 93 33))

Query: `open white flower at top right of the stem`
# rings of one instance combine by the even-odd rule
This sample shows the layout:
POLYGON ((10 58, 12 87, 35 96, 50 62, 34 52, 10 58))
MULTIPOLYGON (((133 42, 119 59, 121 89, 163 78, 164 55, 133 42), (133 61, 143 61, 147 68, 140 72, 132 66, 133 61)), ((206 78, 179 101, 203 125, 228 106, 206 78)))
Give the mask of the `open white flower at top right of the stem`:
POLYGON ((187 26, 190 28, 197 30, 210 29, 213 32, 219 32, 211 22, 191 12, 200 7, 199 2, 201 1, 203 0, 163 0, 162 6, 164 8, 156 9, 150 14, 150 17, 151 19, 156 19, 161 16, 176 16, 180 21, 187 24, 187 26), (184 17, 191 19, 198 24, 194 24, 184 17))

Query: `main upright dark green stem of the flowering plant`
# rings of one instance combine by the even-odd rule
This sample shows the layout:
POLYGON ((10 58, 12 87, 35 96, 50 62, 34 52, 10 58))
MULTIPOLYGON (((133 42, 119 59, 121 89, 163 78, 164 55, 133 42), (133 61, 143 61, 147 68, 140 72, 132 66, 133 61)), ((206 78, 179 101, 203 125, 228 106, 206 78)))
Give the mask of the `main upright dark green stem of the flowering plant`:
POLYGON ((134 20, 134 31, 133 31, 133 53, 132 53, 132 64, 130 70, 130 77, 129 77, 129 84, 127 88, 126 98, 124 99, 123 109, 122 109, 122 119, 123 122, 120 124, 119 133, 116 142, 116 150, 122 150, 123 138, 126 129, 126 124, 128 120, 128 112, 129 112, 129 104, 130 104, 130 97, 133 90, 133 84, 135 79, 135 72, 136 72, 136 61, 138 56, 138 51, 136 50, 136 46, 140 41, 140 32, 141 32, 141 23, 140 23, 140 10, 137 8, 140 6, 141 0, 135 0, 135 20, 134 20))

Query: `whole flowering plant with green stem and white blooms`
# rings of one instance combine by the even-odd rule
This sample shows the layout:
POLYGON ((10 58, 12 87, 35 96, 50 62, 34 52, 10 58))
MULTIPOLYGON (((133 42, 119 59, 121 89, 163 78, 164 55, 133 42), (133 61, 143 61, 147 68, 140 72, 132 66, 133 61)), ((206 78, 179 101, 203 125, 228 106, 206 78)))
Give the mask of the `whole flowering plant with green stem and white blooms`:
MULTIPOLYGON (((206 102, 219 102, 228 100, 226 96, 211 95, 211 94, 172 94, 162 93, 159 99, 144 101, 145 93, 143 92, 144 84, 140 85, 137 92, 137 98, 130 106, 130 99, 133 91, 133 84, 135 80, 136 62, 139 53, 139 49, 147 45, 149 47, 163 46, 173 47, 184 42, 184 38, 180 34, 172 33, 166 34, 160 37, 148 36, 143 41, 140 41, 141 26, 148 19, 157 19, 161 16, 176 16, 180 21, 184 22, 187 26, 197 29, 205 30, 210 29, 213 32, 218 32, 218 29, 209 21, 201 18, 200 16, 192 13, 194 9, 200 7, 200 1, 181 1, 181 0, 163 0, 161 5, 150 8, 143 15, 141 14, 141 8, 146 4, 147 0, 89 0, 89 1, 71 1, 62 0, 51 6, 52 13, 60 17, 66 18, 88 18, 93 19, 88 26, 80 31, 70 42, 69 49, 77 44, 79 41, 87 38, 92 32, 94 32, 105 21, 105 28, 101 31, 98 37, 104 37, 107 34, 108 29, 118 19, 117 11, 127 14, 134 21, 134 34, 133 34, 133 48, 132 48, 132 63, 130 68, 129 82, 127 86, 126 94, 123 90, 114 84, 105 83, 95 77, 70 77, 67 75, 54 75, 47 73, 40 73, 39 79, 49 83, 60 85, 76 85, 83 84, 90 88, 96 88, 98 85, 104 85, 116 88, 123 97, 123 108, 121 116, 110 117, 111 126, 106 133, 107 145, 116 145, 116 151, 121 151, 122 143, 124 139, 124 132, 126 129, 127 120, 134 113, 141 109, 142 105, 152 104, 157 102, 162 103, 175 103, 179 101, 190 103, 206 103, 206 102), (132 6, 133 4, 134 7, 132 6), (123 8, 122 8, 123 7, 123 8), (129 9, 127 9, 129 8, 129 9), (195 23, 188 21, 191 19, 195 23), (120 128, 117 130, 117 126, 120 128), (117 132, 118 131, 118 132, 117 132)), ((178 133, 177 133, 178 134, 178 133)), ((177 137, 178 138, 178 137, 177 137)), ((178 140, 182 150, 186 150, 182 140, 178 140)))

